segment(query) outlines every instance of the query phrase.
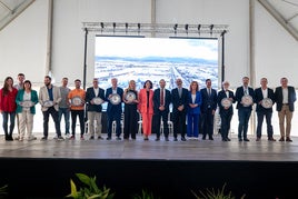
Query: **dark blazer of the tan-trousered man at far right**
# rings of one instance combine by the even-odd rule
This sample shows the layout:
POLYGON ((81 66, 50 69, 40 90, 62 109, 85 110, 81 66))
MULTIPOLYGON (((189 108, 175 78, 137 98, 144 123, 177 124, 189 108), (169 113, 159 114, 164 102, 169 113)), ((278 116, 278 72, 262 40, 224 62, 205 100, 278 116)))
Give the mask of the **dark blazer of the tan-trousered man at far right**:
MULTIPOLYGON (((276 110, 280 111, 282 108, 282 88, 277 87, 275 91, 276 110)), ((288 87, 288 103, 289 110, 294 111, 294 102, 296 101, 296 91, 294 87, 288 87)))

